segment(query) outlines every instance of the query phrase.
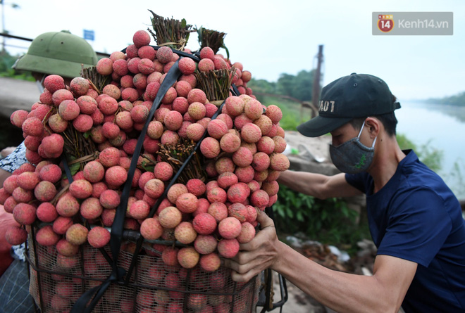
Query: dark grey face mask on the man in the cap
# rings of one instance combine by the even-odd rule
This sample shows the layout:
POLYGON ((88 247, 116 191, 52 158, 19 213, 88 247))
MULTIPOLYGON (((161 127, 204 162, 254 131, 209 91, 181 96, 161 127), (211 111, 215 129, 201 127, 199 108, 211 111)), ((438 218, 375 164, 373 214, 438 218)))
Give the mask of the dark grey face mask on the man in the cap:
POLYGON ((364 126, 365 123, 361 126, 359 136, 337 147, 330 144, 330 157, 337 170, 347 174, 357 174, 365 172, 370 167, 375 153, 376 138, 371 147, 361 143, 360 135, 364 126))

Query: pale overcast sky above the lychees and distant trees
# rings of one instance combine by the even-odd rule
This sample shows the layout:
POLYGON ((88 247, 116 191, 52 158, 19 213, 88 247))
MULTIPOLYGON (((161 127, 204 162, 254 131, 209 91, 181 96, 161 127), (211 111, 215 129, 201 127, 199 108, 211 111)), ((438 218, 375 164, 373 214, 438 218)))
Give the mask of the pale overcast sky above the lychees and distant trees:
MULTIPOLYGON (((137 30, 147 30, 151 17, 147 9, 151 9, 166 18, 185 18, 194 27, 225 32, 231 60, 241 62, 256 79, 275 82, 283 73, 296 75, 315 68, 318 45, 323 45, 323 85, 359 72, 384 79, 400 101, 465 91, 465 1, 461 0, 4 2, 5 29, 20 37, 60 30, 82 37, 83 30, 94 30, 95 40, 89 43, 96 51, 111 53, 131 44, 137 30), (373 11, 452 11, 454 34, 373 36, 373 11)), ((29 45, 12 39, 7 44, 29 45)), ((198 49, 196 35, 187 47, 198 49)))

